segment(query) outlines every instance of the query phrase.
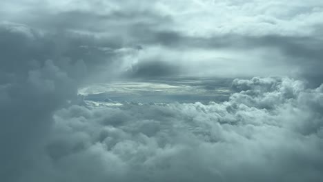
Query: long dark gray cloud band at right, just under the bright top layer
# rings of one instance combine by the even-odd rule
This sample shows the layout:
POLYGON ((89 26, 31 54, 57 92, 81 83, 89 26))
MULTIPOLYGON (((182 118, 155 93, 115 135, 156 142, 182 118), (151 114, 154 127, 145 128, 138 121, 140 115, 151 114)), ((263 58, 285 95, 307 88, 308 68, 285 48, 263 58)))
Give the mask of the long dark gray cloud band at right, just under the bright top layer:
MULTIPOLYGON (((290 37, 277 34, 269 34, 264 36, 225 34, 221 36, 203 38, 187 37, 183 36, 179 32, 150 31, 148 33, 143 32, 142 34, 146 35, 145 37, 142 35, 144 37, 143 39, 139 38, 143 44, 160 44, 166 48, 179 50, 179 52, 190 52, 191 50, 196 49, 210 50, 210 52, 212 50, 219 52, 221 52, 221 50, 232 50, 233 52, 235 50, 245 50, 251 52, 257 52, 257 50, 264 50, 265 52, 276 51, 278 52, 276 56, 273 56, 273 54, 275 54, 273 53, 271 57, 255 57, 255 59, 264 59, 264 63, 262 63, 264 67, 282 66, 286 67, 286 69, 288 69, 288 66, 295 67, 298 69, 298 71, 294 76, 305 78, 315 86, 322 83, 323 75, 321 70, 323 69, 323 40, 319 39, 318 35, 313 37, 290 37)), ((141 35, 139 34, 137 37, 141 37, 141 35)), ((164 64, 167 65, 167 63, 164 64)), ((146 63, 146 65, 148 64, 146 63)), ((151 63, 151 65, 152 66, 150 69, 153 70, 155 65, 154 63, 151 63)), ((177 61, 173 61, 173 65, 175 67, 183 67, 183 65, 177 61)), ((140 67, 140 65, 137 66, 140 67)), ((251 65, 251 67, 252 66, 253 65, 251 65)), ((158 74, 159 72, 156 72, 156 76, 159 76, 158 74)), ((284 73, 280 72, 277 74, 284 73)), ((288 75, 287 70, 286 74, 288 75)))

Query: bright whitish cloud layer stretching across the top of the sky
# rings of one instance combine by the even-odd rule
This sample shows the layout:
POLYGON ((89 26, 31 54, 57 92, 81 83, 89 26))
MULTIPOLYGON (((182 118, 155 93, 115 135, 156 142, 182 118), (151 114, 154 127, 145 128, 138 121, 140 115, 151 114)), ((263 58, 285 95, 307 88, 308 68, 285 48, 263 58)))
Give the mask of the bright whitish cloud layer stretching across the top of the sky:
MULTIPOLYGON (((107 32, 142 23, 144 28, 186 35, 311 35, 322 24, 322 2, 310 1, 10 1, 1 2, 3 19, 37 27, 107 32), (35 6, 38 5, 38 6, 35 6), (17 16, 17 12, 26 16, 17 16), (32 12, 32 14, 28 14, 32 12), (37 16, 42 15, 42 16, 37 16), (51 23, 46 23, 47 17, 51 23), (128 19, 128 17, 132 17, 128 19), (80 21, 83 20, 83 21, 80 21), (109 26, 107 26, 109 24, 109 26), (127 26, 128 24, 128 26, 127 26), (149 26, 150 25, 150 26, 149 26)), ((116 32, 113 31, 115 34, 116 32)))

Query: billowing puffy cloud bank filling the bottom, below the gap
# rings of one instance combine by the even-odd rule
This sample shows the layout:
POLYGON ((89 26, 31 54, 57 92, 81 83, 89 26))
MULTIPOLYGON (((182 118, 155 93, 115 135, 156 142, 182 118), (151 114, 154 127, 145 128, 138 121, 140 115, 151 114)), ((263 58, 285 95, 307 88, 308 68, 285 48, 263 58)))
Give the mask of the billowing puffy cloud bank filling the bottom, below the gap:
POLYGON ((52 181, 322 180, 322 85, 255 77, 233 88, 223 103, 58 110, 39 167, 52 181))

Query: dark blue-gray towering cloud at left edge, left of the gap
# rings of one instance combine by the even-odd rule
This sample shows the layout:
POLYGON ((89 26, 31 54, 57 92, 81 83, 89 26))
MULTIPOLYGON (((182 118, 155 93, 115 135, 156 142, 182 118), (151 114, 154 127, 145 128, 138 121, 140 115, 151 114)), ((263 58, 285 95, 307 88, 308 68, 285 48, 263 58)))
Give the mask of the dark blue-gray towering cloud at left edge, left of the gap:
POLYGON ((72 99, 75 83, 52 61, 39 69, 12 75, 1 85, 1 180, 16 181, 33 163, 51 125, 52 112, 72 99), (7 81, 8 82, 8 81, 7 81))

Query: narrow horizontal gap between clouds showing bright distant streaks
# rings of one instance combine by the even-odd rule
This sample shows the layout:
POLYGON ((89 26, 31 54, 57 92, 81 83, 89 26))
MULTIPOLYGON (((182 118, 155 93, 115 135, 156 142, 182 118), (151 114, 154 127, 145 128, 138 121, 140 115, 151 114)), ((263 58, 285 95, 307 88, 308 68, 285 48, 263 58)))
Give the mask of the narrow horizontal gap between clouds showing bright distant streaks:
POLYGON ((209 103, 226 101, 230 94, 230 78, 177 78, 122 80, 92 83, 79 88, 84 101, 105 104, 133 103, 209 103))

